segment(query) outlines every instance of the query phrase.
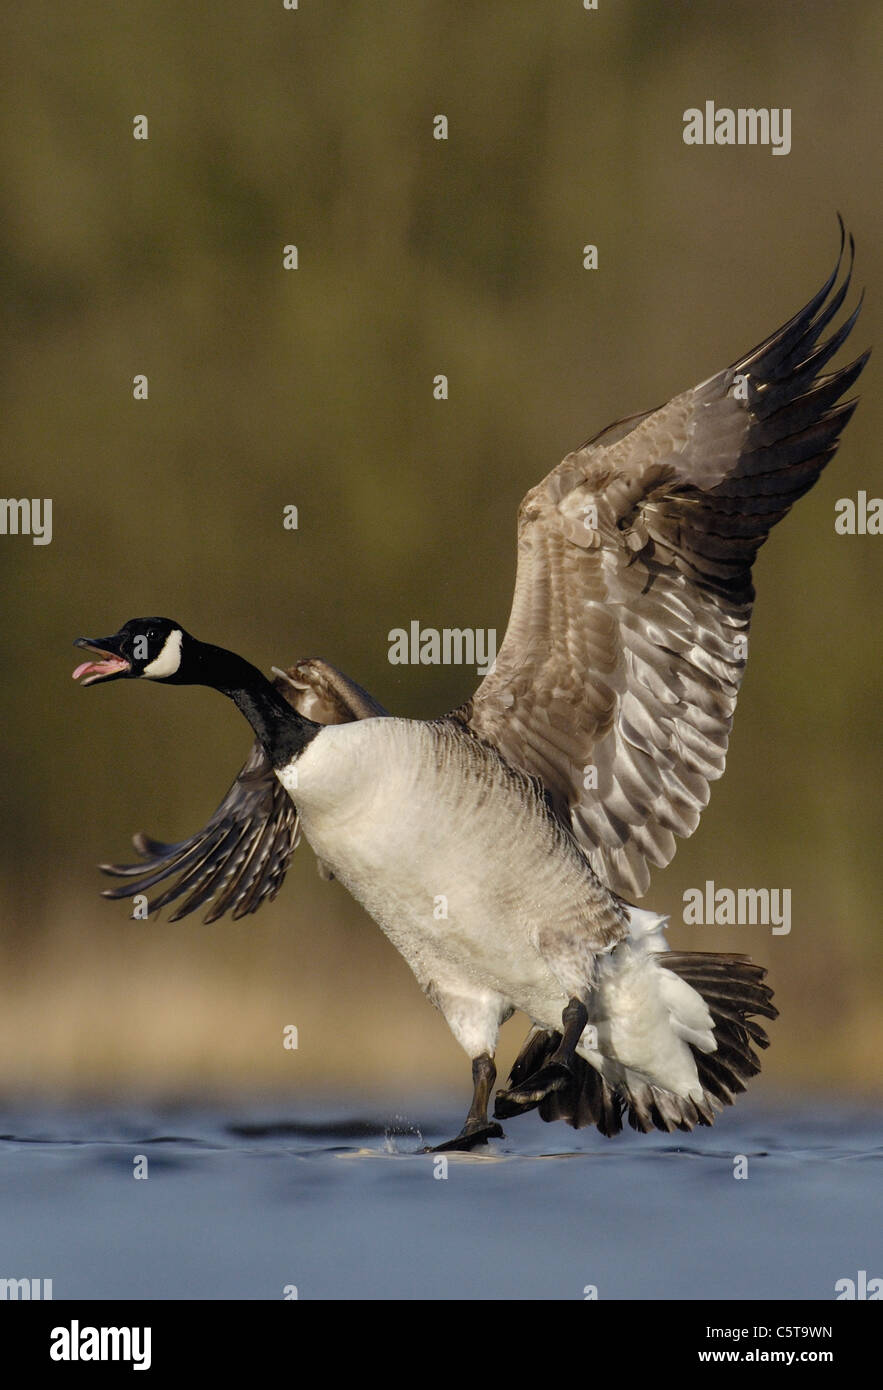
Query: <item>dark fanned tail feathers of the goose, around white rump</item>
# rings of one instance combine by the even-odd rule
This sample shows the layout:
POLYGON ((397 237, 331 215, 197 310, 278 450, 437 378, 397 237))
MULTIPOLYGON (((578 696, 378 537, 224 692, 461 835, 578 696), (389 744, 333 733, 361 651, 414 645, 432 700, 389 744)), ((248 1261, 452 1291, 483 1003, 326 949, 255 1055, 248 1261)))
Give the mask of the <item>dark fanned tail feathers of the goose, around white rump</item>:
MULTIPOLYGON (((747 956, 701 951, 666 951, 656 959, 702 995, 712 1016, 718 1049, 701 1052, 691 1045, 702 1099, 684 1099, 649 1083, 638 1088, 615 1088, 584 1058, 574 1056, 567 1084, 540 1102, 544 1120, 565 1120, 573 1129, 595 1125, 608 1137, 620 1133, 626 1116, 633 1129, 644 1133, 691 1130, 697 1125, 713 1125, 715 1111, 731 1105, 745 1083, 758 1074, 761 1062, 751 1044, 765 1048, 769 1038, 754 1016, 775 1019, 779 1013, 770 1002, 773 991, 763 984, 766 970, 747 956)), ((560 1040, 560 1033, 553 1030, 531 1029, 512 1068, 508 1088, 540 1072, 560 1040)), ((508 1105, 508 1113, 516 1113, 512 1102, 508 1105)), ((519 1106, 519 1111, 528 1109, 534 1105, 519 1106)))

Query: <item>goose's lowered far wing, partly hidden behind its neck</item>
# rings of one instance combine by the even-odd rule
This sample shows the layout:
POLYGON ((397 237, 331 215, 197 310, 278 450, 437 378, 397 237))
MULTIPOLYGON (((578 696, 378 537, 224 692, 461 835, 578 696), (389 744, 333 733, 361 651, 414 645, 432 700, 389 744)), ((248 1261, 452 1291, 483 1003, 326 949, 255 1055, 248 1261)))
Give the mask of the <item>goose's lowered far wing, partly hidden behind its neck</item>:
MULTIPOLYGON (((360 685, 318 657, 280 673, 274 685, 302 714, 320 724, 387 714, 360 685)), ((225 912, 245 917, 275 898, 299 840, 298 810, 263 748, 254 742, 224 801, 195 835, 167 845, 138 834, 132 844, 143 863, 99 866, 103 873, 125 880, 104 890, 103 897, 132 898, 164 884, 147 903, 149 913, 178 902, 170 916, 178 922, 210 902, 206 922, 217 922, 225 912)))

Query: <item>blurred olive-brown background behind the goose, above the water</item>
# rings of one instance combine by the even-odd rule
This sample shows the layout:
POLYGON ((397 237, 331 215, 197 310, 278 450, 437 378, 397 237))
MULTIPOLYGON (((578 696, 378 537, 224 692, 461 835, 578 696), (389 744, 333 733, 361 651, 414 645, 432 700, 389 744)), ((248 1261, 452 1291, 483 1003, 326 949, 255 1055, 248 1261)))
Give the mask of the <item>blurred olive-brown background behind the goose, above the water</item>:
MULTIPOLYGON (((0 537, 4 1091, 467 1093, 306 845, 239 923, 102 901, 95 865, 202 826, 250 731, 210 691, 83 692, 71 642, 165 613, 264 669, 321 655, 399 714, 463 701, 474 671, 391 666, 389 630, 502 641, 523 493, 801 307, 837 210, 868 288, 839 361, 880 341, 880 22, 872 0, 7 7, 3 491, 54 516, 51 545, 0 537), (790 107, 791 153, 686 146, 706 100, 790 107)), ((883 491, 876 359, 861 386, 759 557, 727 774, 645 899, 676 947, 769 965, 768 1093, 882 1086, 883 539, 833 528, 883 491), (790 935, 684 926, 706 878, 790 888, 790 935)))

